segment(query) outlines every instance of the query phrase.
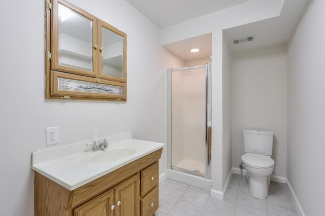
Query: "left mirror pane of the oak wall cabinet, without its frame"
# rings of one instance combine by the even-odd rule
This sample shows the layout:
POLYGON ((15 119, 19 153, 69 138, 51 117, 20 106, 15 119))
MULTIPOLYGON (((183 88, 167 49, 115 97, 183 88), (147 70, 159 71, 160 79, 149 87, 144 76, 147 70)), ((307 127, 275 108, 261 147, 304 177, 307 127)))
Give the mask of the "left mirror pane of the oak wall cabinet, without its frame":
POLYGON ((58 63, 92 71, 92 21, 58 4, 58 63))

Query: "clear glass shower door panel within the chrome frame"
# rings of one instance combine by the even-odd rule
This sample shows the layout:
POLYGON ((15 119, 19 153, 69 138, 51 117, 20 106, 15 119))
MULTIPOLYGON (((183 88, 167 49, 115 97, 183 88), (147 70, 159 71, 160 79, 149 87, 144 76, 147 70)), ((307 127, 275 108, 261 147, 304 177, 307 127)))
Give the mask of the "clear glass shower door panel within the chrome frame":
POLYGON ((170 168, 207 177, 206 65, 170 73, 170 168))

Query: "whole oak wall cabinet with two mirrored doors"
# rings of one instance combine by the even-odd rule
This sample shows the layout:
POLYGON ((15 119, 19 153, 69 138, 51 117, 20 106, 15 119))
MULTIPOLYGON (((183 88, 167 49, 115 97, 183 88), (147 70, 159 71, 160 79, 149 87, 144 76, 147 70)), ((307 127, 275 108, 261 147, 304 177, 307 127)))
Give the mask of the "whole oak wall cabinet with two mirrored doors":
POLYGON ((46 6, 46 97, 126 101, 126 34, 66 1, 46 6))

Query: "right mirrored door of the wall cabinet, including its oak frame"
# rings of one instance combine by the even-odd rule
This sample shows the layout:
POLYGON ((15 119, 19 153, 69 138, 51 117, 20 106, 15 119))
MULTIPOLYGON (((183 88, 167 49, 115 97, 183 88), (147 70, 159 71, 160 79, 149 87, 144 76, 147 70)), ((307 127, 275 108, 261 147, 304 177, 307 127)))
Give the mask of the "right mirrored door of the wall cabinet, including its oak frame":
POLYGON ((113 26, 99 21, 99 77, 115 81, 125 81, 126 52, 124 40, 126 35, 113 26))

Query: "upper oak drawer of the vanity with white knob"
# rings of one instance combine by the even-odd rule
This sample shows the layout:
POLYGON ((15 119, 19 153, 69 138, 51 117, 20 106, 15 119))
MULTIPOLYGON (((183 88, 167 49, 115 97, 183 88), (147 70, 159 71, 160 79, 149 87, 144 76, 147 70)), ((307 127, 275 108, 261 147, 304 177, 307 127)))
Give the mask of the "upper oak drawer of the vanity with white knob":
POLYGON ((141 196, 158 185, 158 162, 141 171, 141 196))

